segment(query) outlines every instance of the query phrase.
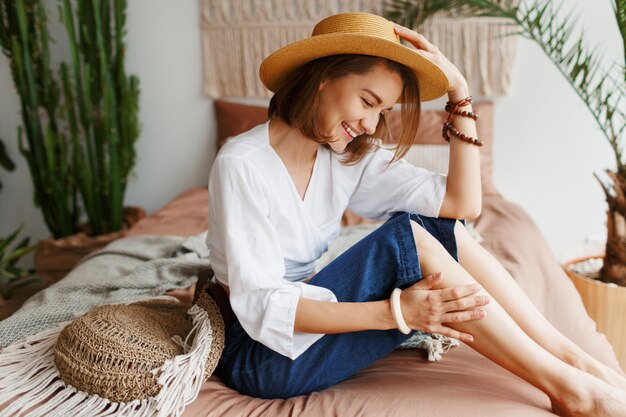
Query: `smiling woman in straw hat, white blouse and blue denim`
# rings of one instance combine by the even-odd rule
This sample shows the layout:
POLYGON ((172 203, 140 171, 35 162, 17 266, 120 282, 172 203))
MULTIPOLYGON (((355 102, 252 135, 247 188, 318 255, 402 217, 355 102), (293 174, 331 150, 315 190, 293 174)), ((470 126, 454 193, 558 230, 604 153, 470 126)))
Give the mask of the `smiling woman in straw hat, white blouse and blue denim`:
POLYGON ((211 264, 236 316, 220 361, 229 386, 262 398, 322 390, 424 330, 542 389, 562 415, 626 415, 624 377, 553 328, 455 220, 480 213, 482 143, 467 83, 435 46, 381 17, 339 14, 266 58, 260 76, 275 92, 270 120, 224 145, 209 179, 211 264), (420 100, 446 93, 443 176, 399 158, 420 100), (387 137, 396 102, 394 155, 374 138, 387 137), (386 222, 313 275, 346 208, 386 222))

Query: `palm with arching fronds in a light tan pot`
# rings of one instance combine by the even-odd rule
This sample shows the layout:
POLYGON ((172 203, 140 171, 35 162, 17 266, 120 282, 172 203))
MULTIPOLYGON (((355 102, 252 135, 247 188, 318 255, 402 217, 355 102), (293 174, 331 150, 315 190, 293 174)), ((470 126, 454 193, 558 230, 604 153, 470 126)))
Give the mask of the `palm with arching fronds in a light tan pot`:
MULTIPOLYGON (((626 161, 622 155, 626 129, 625 63, 604 68, 597 51, 586 46, 584 34, 570 40, 575 19, 561 20, 549 1, 511 0, 389 0, 387 18, 418 28, 429 17, 450 12, 459 17, 498 17, 508 20, 520 34, 536 42, 569 81, 591 112, 615 155, 617 168, 606 170, 608 181, 594 174, 608 205, 605 254, 598 260, 575 259, 564 268, 589 315, 613 344, 626 368, 626 161), (597 265, 594 269, 594 264, 597 265), (579 272, 576 272, 576 271, 579 272), (582 274, 589 271, 591 277, 582 274)), ((626 0, 613 0, 613 12, 626 48, 626 0)), ((625 55, 626 60, 626 55, 625 55)))

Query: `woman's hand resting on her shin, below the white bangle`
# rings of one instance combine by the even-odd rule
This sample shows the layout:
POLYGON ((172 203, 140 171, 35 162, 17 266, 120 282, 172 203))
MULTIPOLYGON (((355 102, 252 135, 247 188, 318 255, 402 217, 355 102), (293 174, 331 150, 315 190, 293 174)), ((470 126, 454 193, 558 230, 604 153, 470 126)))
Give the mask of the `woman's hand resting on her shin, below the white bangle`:
POLYGON ((429 275, 402 291, 400 305, 404 321, 413 330, 439 333, 463 342, 472 342, 472 335, 444 326, 479 320, 486 316, 478 307, 489 304, 489 297, 476 294, 478 284, 462 285, 442 290, 431 289, 441 281, 442 273, 429 275))

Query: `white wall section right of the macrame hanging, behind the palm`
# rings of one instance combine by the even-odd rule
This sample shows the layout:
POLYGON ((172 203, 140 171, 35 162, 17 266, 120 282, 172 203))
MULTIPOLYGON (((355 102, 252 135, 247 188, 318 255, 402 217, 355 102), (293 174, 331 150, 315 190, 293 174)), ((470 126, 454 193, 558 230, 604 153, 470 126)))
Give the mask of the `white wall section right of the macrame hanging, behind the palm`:
MULTIPOLYGON (((603 62, 624 64, 611 1, 562 1, 580 16, 603 62)), ((622 103, 623 105, 624 103, 622 103)), ((534 43, 520 40, 510 94, 495 106, 494 179, 524 207, 557 255, 585 239, 605 239, 606 200, 596 173, 614 169, 613 152, 591 113, 534 43)))

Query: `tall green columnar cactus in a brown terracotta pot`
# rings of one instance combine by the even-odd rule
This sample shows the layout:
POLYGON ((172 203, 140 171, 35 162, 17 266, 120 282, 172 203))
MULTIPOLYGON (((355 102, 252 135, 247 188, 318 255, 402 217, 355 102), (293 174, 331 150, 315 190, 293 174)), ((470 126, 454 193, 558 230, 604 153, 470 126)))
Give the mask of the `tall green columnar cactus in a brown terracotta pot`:
POLYGON ((56 75, 41 0, 0 0, 0 45, 22 108, 19 148, 52 234, 35 266, 50 281, 145 215, 123 207, 139 136, 139 81, 124 70, 126 1, 63 0, 59 13, 72 60, 56 75))

